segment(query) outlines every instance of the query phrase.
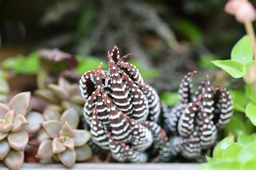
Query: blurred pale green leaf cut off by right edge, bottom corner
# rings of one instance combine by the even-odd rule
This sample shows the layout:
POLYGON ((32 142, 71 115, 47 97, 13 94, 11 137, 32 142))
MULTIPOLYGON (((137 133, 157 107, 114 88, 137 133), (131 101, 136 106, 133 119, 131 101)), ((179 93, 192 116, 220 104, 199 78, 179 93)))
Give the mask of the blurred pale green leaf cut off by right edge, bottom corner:
POLYGON ((251 160, 256 162, 256 141, 248 144, 247 147, 239 153, 237 159, 240 162, 247 162, 251 160))

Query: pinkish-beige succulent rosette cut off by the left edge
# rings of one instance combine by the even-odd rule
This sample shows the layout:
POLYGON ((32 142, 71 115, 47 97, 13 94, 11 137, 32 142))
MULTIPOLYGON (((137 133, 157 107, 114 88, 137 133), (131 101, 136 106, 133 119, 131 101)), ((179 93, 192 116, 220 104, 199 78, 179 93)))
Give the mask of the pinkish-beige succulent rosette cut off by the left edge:
POLYGON ((28 113, 30 97, 30 92, 24 92, 8 104, 0 103, 0 160, 10 169, 21 167, 29 134, 39 131, 44 121, 42 114, 28 113))

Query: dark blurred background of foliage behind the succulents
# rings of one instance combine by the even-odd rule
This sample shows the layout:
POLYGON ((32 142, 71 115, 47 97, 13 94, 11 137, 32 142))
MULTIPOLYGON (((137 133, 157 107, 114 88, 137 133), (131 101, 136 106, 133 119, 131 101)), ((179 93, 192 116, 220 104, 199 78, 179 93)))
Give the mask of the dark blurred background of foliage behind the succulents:
POLYGON ((128 60, 159 93, 176 91, 191 70, 198 70, 195 79, 209 74, 215 80, 219 69, 210 61, 229 59, 233 45, 245 34, 244 26, 224 12, 225 3, 2 0, 0 67, 34 76, 37 49, 59 48, 77 56, 76 71, 83 74, 100 61, 107 68, 106 52, 117 45, 121 55, 133 53, 128 60))

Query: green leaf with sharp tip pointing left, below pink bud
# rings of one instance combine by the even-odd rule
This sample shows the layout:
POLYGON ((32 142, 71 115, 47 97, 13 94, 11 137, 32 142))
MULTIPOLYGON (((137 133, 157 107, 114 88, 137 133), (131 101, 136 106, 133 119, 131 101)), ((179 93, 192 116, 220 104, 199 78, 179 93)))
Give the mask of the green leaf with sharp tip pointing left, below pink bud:
POLYGON ((245 65, 236 60, 215 60, 212 61, 212 63, 225 70, 228 74, 230 74, 232 77, 238 79, 245 75, 246 73, 246 67, 245 65))

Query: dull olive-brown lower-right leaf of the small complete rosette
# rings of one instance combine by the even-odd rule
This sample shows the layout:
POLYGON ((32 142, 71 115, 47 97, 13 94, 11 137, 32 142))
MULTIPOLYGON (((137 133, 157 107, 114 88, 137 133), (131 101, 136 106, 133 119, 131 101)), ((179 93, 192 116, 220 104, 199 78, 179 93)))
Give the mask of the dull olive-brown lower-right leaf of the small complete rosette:
POLYGON ((86 159, 89 159, 92 156, 91 147, 87 144, 75 147, 75 152, 77 156, 76 158, 77 161, 84 161, 86 159))

